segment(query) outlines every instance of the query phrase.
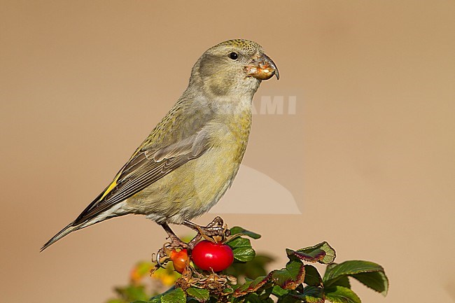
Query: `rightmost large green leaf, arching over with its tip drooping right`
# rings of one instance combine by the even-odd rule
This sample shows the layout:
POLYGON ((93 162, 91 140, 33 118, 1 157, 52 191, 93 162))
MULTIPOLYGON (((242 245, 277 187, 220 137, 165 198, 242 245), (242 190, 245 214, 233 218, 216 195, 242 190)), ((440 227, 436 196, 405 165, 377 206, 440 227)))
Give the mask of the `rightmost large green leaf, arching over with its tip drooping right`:
POLYGON ((382 295, 387 294, 388 279, 384 268, 374 262, 350 260, 328 267, 323 277, 324 285, 339 285, 339 279, 343 276, 352 276, 382 295))

